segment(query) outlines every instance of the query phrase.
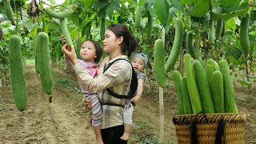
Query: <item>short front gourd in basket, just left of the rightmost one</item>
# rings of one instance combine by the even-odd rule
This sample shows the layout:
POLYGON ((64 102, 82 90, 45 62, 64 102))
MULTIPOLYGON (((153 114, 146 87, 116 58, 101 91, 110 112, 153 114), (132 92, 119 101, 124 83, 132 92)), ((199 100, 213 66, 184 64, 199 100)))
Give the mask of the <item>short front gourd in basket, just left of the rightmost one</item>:
POLYGON ((213 75, 213 101, 215 113, 225 113, 224 103, 224 86, 222 72, 219 70, 214 71, 213 75))

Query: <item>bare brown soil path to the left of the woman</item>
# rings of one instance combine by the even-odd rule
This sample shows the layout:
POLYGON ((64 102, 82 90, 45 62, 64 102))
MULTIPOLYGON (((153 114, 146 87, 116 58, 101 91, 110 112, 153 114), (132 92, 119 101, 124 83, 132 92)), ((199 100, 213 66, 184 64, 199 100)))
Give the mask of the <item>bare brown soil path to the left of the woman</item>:
MULTIPOLYGON (((54 81, 61 76, 70 77, 58 72, 62 71, 54 70, 54 81)), ((14 106, 11 87, 1 88, 0 143, 94 142, 94 132, 88 123, 89 117, 86 117, 88 114, 74 90, 65 90, 66 87, 54 82, 53 102, 50 103, 42 92, 34 66, 26 66, 25 76, 28 103, 24 112, 14 106)))

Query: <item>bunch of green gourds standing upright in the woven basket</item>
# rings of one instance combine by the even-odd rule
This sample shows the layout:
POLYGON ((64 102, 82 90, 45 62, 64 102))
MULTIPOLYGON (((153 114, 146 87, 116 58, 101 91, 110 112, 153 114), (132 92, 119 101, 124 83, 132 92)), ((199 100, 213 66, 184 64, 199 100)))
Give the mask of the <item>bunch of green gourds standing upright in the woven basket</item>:
POLYGON ((191 55, 185 54, 184 66, 183 77, 178 70, 172 74, 178 92, 178 114, 238 113, 225 59, 217 63, 210 58, 203 66, 201 61, 192 61, 191 55))

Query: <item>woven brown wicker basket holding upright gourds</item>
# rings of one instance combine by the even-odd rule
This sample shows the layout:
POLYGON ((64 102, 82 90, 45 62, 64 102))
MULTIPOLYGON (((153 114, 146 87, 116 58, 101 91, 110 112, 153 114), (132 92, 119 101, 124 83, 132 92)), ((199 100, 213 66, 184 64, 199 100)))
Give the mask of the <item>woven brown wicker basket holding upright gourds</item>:
POLYGON ((198 143, 214 143, 218 122, 224 122, 222 143, 244 143, 246 114, 176 115, 173 122, 178 143, 190 143, 191 124, 196 123, 198 143))

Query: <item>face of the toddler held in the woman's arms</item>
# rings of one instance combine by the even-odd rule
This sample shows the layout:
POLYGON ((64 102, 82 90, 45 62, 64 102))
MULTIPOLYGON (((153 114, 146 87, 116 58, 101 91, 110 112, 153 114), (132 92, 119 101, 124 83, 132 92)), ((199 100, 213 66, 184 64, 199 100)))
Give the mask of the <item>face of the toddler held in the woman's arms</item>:
POLYGON ((94 44, 90 41, 83 42, 80 49, 80 56, 86 62, 94 62, 94 58, 97 58, 94 44))

